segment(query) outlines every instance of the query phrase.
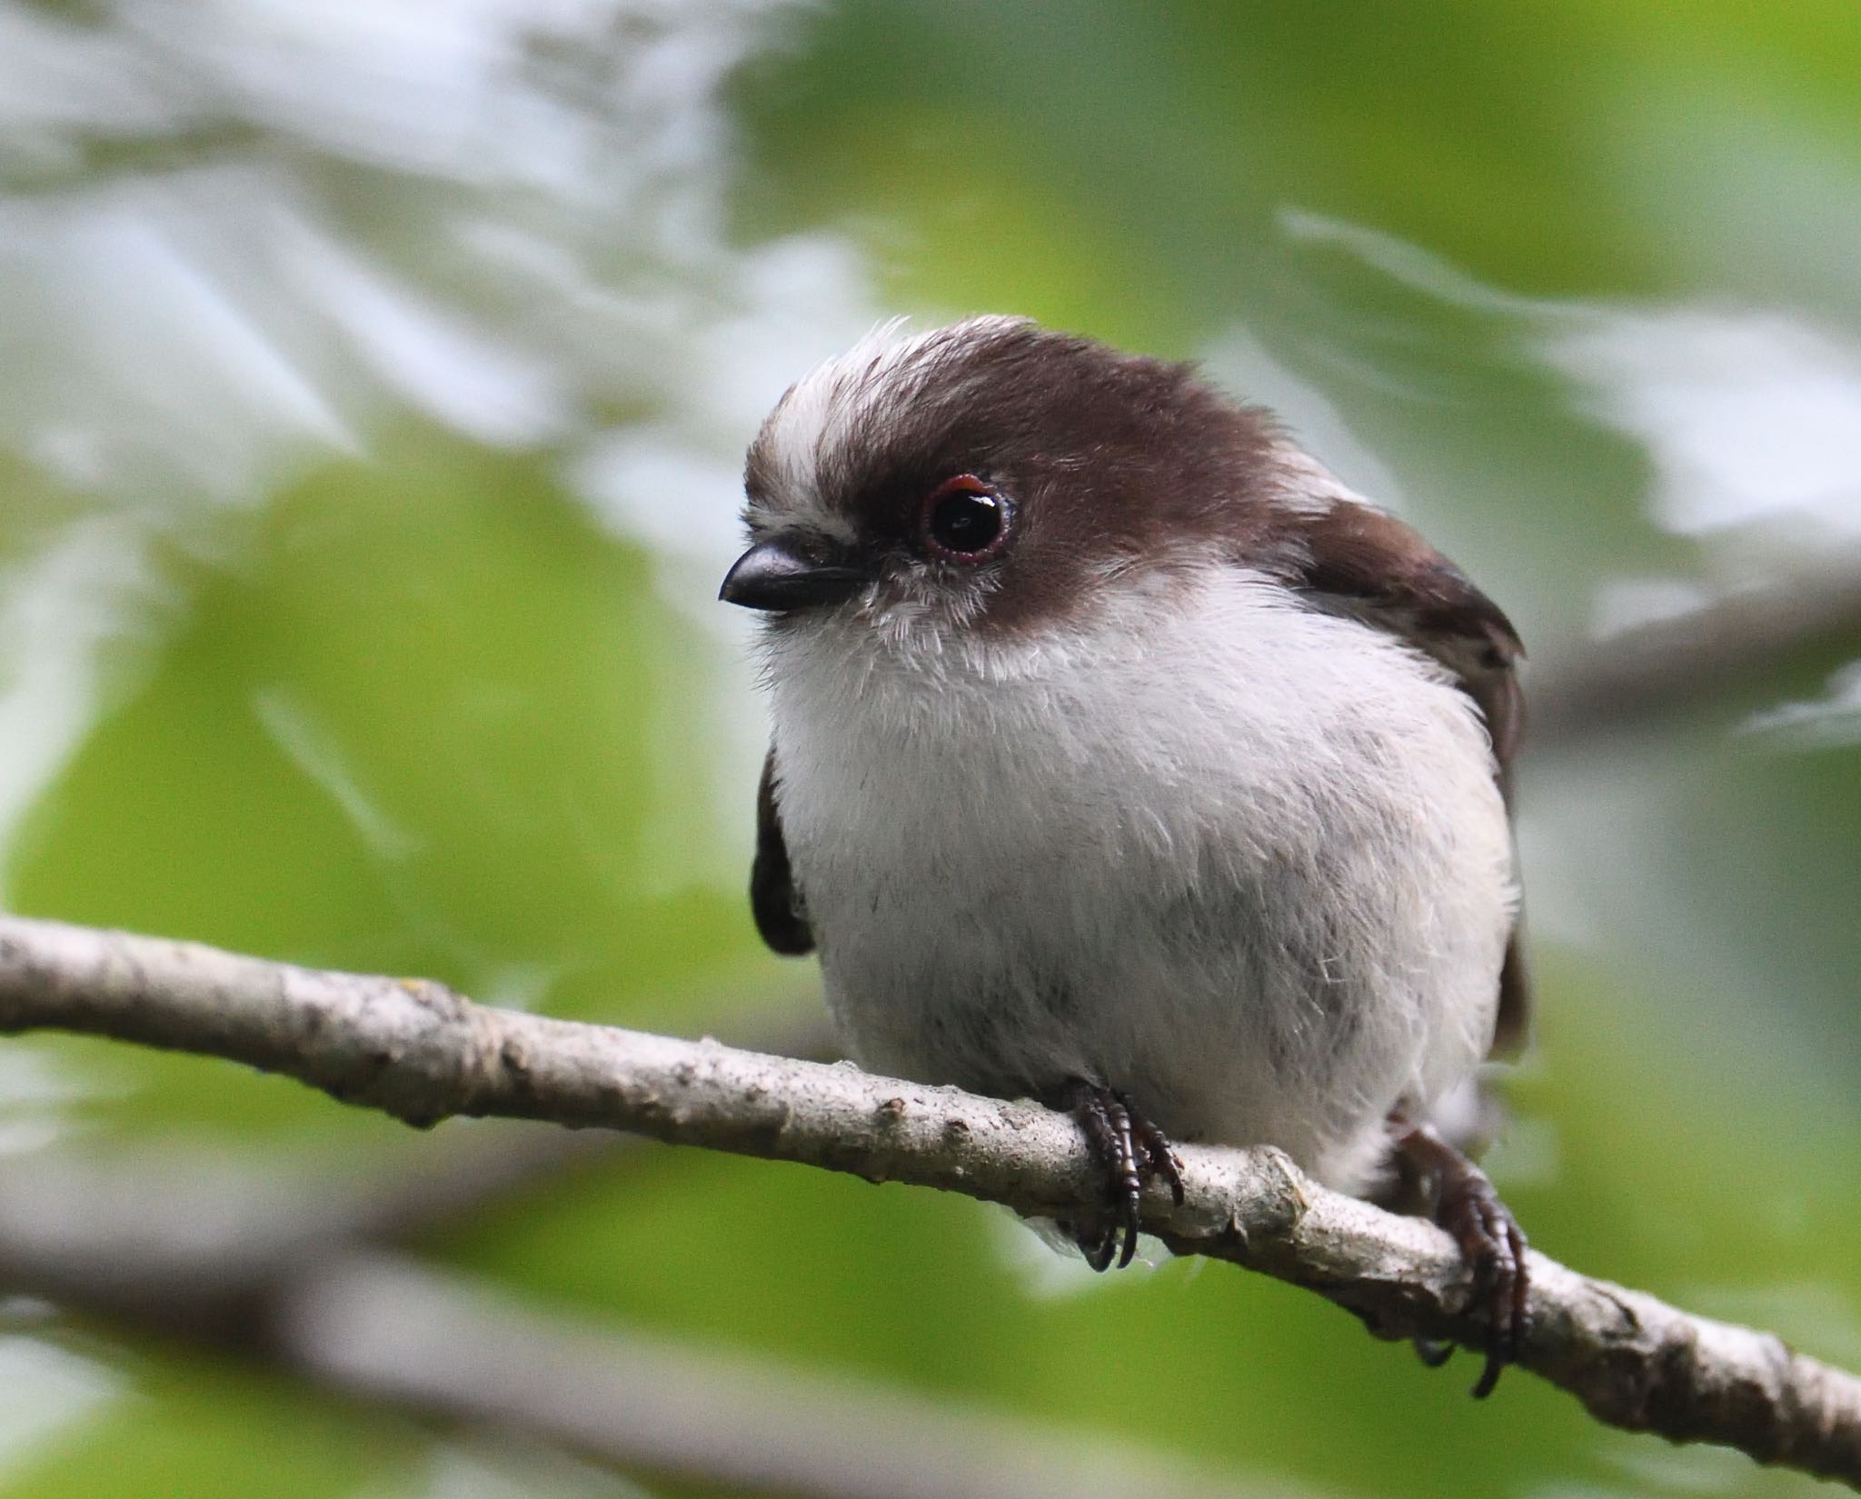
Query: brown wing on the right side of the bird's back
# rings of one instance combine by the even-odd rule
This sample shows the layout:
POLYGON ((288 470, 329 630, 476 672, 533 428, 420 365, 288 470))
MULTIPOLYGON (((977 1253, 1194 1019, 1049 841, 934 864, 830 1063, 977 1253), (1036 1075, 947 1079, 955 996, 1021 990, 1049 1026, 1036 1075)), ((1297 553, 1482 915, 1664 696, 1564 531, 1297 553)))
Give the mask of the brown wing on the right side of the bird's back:
MULTIPOLYGON (((1517 672, 1524 646, 1511 620, 1414 531, 1366 505, 1340 499, 1301 527, 1301 542, 1295 583, 1435 657, 1479 706, 1509 812, 1511 762, 1524 734, 1517 672)), ((1500 970, 1493 1054, 1517 1052, 1530 1020, 1532 987, 1515 925, 1500 970)))

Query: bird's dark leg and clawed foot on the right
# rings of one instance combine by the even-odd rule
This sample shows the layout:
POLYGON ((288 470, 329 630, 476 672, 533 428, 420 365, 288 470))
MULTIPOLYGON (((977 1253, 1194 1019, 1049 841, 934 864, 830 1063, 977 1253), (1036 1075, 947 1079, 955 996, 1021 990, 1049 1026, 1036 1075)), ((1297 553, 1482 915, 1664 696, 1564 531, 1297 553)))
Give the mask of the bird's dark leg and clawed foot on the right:
MULTIPOLYGON (((1524 1235, 1474 1162, 1427 1125, 1412 1125, 1399 1115, 1390 1125, 1396 1149, 1427 1182, 1435 1222, 1453 1235, 1474 1270, 1474 1296, 1487 1313, 1487 1365, 1474 1385, 1474 1398, 1483 1400, 1498 1384, 1500 1371, 1519 1356, 1524 1337, 1530 1290, 1524 1235)), ((1453 1352, 1453 1344, 1433 1339, 1416 1339, 1414 1346, 1429 1367, 1446 1363, 1453 1352)))

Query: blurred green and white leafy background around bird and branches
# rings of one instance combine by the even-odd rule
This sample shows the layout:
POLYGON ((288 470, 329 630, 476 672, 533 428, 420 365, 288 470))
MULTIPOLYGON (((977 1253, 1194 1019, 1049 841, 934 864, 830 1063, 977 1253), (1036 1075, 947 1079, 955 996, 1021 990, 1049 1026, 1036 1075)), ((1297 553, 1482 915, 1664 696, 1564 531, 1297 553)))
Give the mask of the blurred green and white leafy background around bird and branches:
MULTIPOLYGON (((713 598, 743 447, 813 359, 983 309, 1202 358, 1550 672, 1861 568, 1857 263, 1848 0, 0 0, 0 898, 795 1035, 713 598)), ((1855 1367, 1861 674, 1829 667, 1528 754, 1539 1035, 1491 1164, 1548 1253, 1855 1367)), ((0 1043, 11 1171, 210 1156, 315 1201, 495 1138, 0 1043)), ((964 1199, 657 1149, 519 1175, 419 1255, 1238 1493, 1809 1490, 1524 1376, 1472 1406, 1465 1359, 1223 1266, 1085 1285, 964 1199)), ((6 1495, 635 1492, 13 1290, 6 1495)))

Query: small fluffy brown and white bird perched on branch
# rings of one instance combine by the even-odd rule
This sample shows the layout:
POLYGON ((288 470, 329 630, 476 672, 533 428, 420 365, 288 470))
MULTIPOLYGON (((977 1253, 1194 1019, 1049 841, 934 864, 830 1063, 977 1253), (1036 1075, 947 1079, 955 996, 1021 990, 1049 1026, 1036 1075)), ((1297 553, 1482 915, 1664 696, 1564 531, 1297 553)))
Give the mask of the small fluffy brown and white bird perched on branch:
POLYGON ((743 518, 750 907, 850 1056, 1070 1110, 1098 1270, 1176 1141, 1420 1184, 1489 1393, 1526 1240, 1446 1115, 1530 1020, 1498 605, 1195 365, 1014 317, 808 371, 743 518))

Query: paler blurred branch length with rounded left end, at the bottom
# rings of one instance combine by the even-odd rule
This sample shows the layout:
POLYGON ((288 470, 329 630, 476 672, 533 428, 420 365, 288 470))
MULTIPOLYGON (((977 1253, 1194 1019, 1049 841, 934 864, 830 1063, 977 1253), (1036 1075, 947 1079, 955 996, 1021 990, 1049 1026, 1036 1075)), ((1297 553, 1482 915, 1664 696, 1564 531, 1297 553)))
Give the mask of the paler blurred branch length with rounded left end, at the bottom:
POLYGON ((292 1361, 350 1393, 687 1482, 819 1499, 1239 1499, 1239 1475, 871 1380, 566 1326, 404 1259, 292 1287, 292 1361))

